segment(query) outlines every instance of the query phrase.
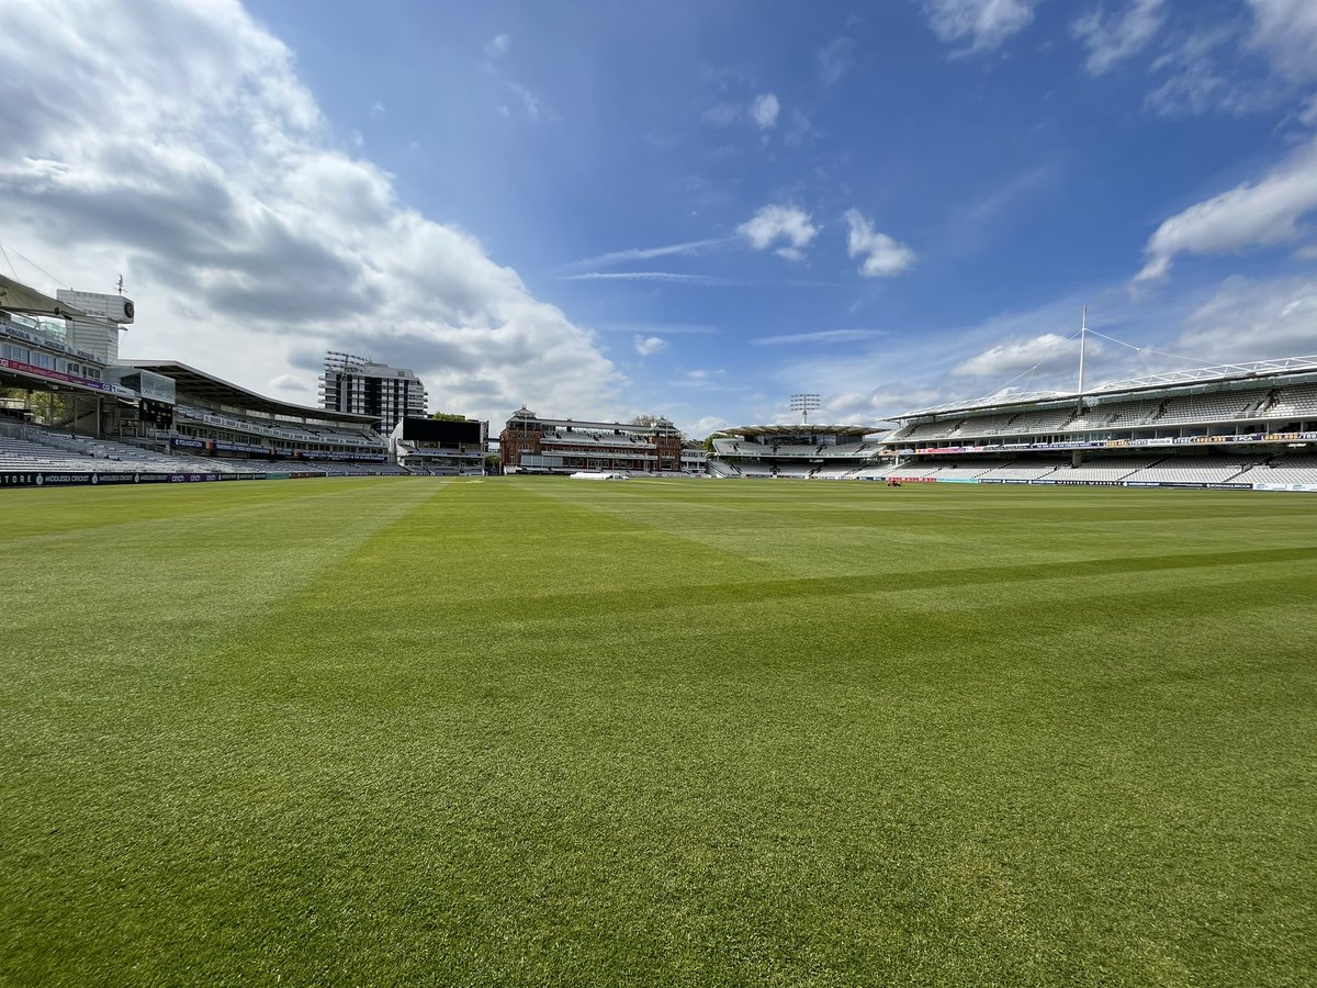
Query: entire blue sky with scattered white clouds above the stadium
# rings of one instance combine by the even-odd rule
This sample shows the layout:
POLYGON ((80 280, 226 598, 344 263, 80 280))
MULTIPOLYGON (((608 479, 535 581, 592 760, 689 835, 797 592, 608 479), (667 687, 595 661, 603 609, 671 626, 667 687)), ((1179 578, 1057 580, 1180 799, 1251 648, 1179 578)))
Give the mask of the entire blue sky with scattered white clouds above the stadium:
POLYGON ((14 0, 0 242, 291 400, 332 346, 495 422, 877 423, 1072 386, 1084 303, 1096 379, 1317 352, 1313 51, 1310 0, 14 0))

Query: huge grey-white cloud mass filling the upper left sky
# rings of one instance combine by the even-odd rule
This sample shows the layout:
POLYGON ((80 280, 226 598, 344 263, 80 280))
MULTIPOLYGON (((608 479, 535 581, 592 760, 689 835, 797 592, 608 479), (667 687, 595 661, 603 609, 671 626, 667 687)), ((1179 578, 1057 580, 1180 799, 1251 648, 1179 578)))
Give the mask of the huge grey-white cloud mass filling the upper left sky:
POLYGON ((129 352, 261 387, 295 352, 350 348, 469 414, 611 407, 620 377, 593 335, 344 154, 292 54, 240 4, 133 11, 0 7, 0 215, 66 277, 124 271, 129 352))

